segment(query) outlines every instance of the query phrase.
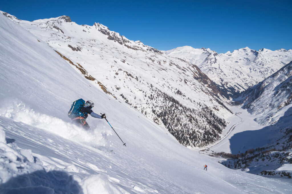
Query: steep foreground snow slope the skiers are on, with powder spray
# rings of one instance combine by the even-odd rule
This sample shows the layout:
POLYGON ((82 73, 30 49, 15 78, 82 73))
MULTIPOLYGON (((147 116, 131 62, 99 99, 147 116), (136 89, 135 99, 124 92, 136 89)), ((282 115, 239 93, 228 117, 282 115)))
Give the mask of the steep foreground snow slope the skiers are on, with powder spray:
POLYGON ((0 34, 0 193, 292 192, 187 149, 2 14, 0 34), (90 131, 72 125, 78 98, 107 113, 127 147, 105 120, 88 118, 90 131))

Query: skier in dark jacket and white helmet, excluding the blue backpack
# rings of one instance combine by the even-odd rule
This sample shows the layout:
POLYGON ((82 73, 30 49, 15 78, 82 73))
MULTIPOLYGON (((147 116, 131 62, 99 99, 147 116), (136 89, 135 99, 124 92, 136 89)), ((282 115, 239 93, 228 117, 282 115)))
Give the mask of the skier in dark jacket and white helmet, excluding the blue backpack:
POLYGON ((84 117, 76 117, 72 119, 72 122, 76 125, 81 125, 84 129, 90 129, 88 123, 86 122, 86 118, 88 117, 88 114, 90 114, 94 118, 103 119, 106 118, 105 114, 102 114, 101 116, 94 113, 91 108, 93 108, 94 103, 91 100, 86 101, 83 107, 81 107, 80 111, 83 113, 84 117))

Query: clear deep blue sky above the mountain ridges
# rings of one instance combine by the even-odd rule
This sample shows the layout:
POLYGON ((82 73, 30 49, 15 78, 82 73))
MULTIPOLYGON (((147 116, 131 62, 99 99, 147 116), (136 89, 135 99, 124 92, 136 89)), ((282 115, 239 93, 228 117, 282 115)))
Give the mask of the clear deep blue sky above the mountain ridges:
POLYGON ((77 24, 98 22, 159 50, 185 45, 218 53, 292 49, 292 0, 0 0, 0 10, 29 21, 67 15, 77 24))

